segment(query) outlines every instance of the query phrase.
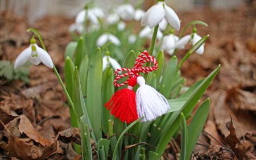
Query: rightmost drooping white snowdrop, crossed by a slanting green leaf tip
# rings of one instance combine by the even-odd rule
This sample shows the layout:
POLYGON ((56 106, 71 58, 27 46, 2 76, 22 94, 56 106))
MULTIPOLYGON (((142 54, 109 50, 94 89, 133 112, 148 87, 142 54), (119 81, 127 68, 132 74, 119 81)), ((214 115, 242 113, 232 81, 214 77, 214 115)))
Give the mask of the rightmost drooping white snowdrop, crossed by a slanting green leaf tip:
MULTIPOLYGON (((201 40, 201 36, 197 35, 196 32, 191 33, 191 35, 186 35, 182 37, 177 43, 175 44, 176 48, 183 47, 189 41, 191 41, 192 45, 195 45, 199 40, 201 40)), ((201 55, 204 54, 204 43, 196 50, 196 53, 201 55)))

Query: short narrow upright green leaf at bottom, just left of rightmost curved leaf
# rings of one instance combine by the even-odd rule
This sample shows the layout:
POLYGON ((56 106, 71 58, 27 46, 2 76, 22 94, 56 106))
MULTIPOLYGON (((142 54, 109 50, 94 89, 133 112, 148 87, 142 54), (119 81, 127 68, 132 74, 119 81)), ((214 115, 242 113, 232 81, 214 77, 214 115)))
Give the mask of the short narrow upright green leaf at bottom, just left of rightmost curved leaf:
POLYGON ((180 113, 180 130, 180 159, 185 159, 188 147, 188 129, 185 115, 182 112, 180 113))

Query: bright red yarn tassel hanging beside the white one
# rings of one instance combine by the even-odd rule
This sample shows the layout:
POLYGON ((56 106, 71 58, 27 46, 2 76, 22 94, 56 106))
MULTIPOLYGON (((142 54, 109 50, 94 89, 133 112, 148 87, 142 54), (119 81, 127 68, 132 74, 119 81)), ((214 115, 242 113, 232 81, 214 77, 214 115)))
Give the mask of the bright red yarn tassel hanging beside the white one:
POLYGON ((119 117, 122 122, 131 123, 138 119, 135 92, 133 91, 136 83, 136 77, 130 78, 127 89, 115 92, 109 102, 105 104, 105 107, 111 110, 110 113, 119 117))

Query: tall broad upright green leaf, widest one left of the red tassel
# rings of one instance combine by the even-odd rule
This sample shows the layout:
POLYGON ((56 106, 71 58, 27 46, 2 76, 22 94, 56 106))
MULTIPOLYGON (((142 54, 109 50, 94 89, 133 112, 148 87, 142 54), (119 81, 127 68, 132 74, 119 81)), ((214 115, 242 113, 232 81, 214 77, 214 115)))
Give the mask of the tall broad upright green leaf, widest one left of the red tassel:
POLYGON ((87 98, 86 109, 88 111, 92 128, 97 141, 102 138, 101 132, 101 83, 102 83, 102 54, 100 48, 97 48, 92 54, 89 62, 87 79, 87 98))

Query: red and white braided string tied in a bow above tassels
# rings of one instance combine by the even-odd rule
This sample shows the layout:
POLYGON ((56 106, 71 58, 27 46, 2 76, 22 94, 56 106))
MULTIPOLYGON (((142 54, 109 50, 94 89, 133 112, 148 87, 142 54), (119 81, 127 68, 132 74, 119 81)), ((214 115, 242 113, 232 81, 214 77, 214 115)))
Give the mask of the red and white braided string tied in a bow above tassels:
POLYGON ((135 60, 135 65, 133 68, 129 69, 129 68, 121 68, 121 69, 117 69, 115 70, 114 74, 117 78, 114 79, 114 85, 117 87, 121 87, 124 86, 128 83, 129 79, 131 77, 139 77, 141 75, 139 75, 139 73, 149 73, 151 71, 154 71, 158 69, 158 62, 156 61, 156 59, 153 56, 150 56, 150 54, 148 54, 148 51, 144 51, 141 54, 139 54, 139 56, 137 57, 137 59, 135 60), (146 62, 152 62, 152 64, 154 64, 154 66, 151 67, 142 67, 146 62), (127 71, 126 73, 123 74, 118 74, 119 71, 127 71), (123 77, 129 76, 129 78, 123 82, 123 83, 117 83, 117 81, 123 77))

